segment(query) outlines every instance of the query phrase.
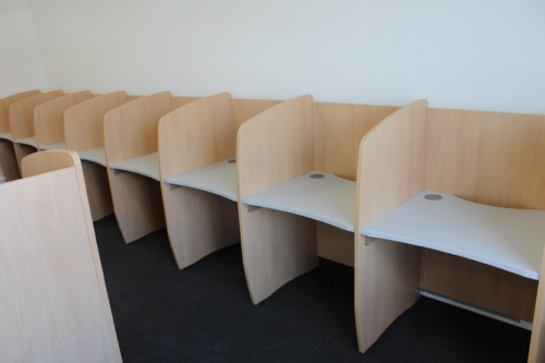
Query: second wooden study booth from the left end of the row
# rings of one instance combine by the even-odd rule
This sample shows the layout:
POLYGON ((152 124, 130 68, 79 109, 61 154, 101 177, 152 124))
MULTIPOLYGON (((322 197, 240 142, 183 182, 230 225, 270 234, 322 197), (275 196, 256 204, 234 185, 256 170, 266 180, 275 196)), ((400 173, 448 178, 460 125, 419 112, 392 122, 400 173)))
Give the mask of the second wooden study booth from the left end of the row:
POLYGON ((34 109, 53 98, 63 96, 62 90, 51 90, 38 94, 17 102, 10 107, 10 124, 13 137, 13 147, 21 169, 21 160, 38 150, 36 145, 36 134, 34 129, 34 109))

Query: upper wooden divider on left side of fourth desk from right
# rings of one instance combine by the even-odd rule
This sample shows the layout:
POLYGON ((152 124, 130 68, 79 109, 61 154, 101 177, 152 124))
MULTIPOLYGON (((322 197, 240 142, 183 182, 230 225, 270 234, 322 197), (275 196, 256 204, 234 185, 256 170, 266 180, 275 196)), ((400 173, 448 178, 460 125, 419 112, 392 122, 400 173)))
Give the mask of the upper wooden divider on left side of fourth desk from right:
POLYGON ((172 95, 162 92, 137 98, 105 116, 108 165, 157 153, 159 119, 172 111, 172 95))

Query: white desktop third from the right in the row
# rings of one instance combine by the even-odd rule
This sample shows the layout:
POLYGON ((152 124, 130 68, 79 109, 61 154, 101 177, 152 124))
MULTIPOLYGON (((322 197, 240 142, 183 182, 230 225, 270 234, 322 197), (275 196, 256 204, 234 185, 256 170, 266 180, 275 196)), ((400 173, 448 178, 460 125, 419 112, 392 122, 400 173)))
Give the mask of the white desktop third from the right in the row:
POLYGON ((169 184, 199 189, 237 202, 237 164, 228 162, 229 160, 235 160, 235 158, 165 178, 164 181, 169 184))

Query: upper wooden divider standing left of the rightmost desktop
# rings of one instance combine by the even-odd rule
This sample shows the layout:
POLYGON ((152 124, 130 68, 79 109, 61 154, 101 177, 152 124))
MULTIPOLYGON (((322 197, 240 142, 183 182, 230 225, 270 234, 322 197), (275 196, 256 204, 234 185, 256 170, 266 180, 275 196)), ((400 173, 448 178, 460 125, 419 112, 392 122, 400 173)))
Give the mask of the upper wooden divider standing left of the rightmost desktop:
POLYGON ((424 189, 425 99, 378 123, 361 141, 356 182, 356 231, 424 189))

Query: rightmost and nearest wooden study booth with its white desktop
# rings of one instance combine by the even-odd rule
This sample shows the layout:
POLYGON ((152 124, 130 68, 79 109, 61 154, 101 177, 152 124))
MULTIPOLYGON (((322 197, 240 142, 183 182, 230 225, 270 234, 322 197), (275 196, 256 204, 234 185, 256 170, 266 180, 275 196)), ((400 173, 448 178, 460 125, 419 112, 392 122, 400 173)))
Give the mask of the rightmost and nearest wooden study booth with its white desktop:
MULTIPOLYGON (((533 322, 545 360, 545 116, 413 102, 360 147, 360 351, 429 290, 533 322)), ((448 329, 448 327, 446 327, 448 329)))

